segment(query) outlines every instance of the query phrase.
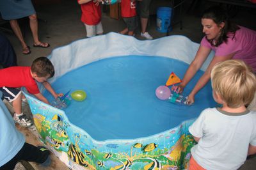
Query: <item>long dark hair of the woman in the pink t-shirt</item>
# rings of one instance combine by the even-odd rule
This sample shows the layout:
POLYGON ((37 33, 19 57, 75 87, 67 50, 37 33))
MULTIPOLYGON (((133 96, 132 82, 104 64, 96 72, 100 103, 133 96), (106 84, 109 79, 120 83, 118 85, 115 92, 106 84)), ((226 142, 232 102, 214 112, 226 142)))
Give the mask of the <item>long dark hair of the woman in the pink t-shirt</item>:
POLYGON ((202 19, 212 19, 217 25, 220 25, 221 22, 225 23, 225 26, 221 29, 220 37, 217 42, 213 43, 212 40, 208 40, 211 45, 218 47, 223 42, 227 42, 228 33, 232 33, 233 37, 236 35, 237 29, 240 29, 239 26, 230 21, 228 13, 221 8, 221 6, 212 6, 204 11, 202 19))

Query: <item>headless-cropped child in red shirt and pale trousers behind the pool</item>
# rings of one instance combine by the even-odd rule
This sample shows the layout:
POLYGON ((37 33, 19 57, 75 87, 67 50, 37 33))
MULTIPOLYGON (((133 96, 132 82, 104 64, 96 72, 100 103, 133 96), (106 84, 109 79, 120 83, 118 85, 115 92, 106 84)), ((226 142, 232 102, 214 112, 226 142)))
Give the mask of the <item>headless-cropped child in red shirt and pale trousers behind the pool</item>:
POLYGON ((86 28, 87 37, 102 35, 103 28, 101 24, 101 9, 99 1, 77 0, 81 4, 82 16, 81 21, 86 28))

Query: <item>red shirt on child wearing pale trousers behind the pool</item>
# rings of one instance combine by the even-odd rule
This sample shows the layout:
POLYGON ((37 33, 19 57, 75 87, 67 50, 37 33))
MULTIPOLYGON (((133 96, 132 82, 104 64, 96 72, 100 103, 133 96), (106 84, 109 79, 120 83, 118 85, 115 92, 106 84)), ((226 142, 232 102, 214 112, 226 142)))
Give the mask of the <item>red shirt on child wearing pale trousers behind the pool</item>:
MULTIPOLYGON (((79 0, 77 0, 79 1, 79 0)), ((81 21, 89 26, 96 26, 101 19, 100 5, 96 6, 93 1, 81 4, 82 16, 81 21)))

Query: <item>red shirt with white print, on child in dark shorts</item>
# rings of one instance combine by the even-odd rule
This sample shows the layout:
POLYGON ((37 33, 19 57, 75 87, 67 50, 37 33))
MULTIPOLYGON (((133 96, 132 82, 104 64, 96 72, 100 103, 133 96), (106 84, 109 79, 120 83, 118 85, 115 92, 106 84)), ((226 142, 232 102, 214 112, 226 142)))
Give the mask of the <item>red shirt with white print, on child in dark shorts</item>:
POLYGON ((121 15, 124 18, 136 16, 136 1, 122 0, 121 1, 121 15))

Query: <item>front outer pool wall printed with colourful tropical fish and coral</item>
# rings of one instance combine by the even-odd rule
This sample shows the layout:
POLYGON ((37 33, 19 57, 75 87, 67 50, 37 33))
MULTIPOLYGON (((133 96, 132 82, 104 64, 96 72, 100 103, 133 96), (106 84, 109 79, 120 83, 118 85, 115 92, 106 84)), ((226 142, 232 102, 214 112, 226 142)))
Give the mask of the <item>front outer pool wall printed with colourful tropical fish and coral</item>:
POLYGON ((44 103, 26 98, 41 141, 72 169, 188 168, 190 149, 196 144, 188 127, 195 120, 150 137, 100 142, 72 125, 60 109, 45 110, 44 103))

